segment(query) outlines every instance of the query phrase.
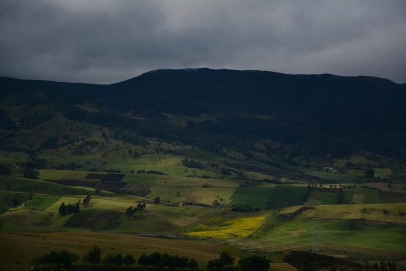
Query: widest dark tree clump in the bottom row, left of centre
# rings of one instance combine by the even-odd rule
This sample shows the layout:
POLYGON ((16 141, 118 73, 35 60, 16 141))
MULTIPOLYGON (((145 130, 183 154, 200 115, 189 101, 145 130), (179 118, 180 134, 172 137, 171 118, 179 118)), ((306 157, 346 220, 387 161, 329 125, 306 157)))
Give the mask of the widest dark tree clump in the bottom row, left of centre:
POLYGON ((154 252, 150 255, 143 254, 137 261, 140 265, 152 265, 154 268, 167 266, 169 268, 191 268, 197 269, 197 261, 186 256, 170 255, 168 253, 154 252))

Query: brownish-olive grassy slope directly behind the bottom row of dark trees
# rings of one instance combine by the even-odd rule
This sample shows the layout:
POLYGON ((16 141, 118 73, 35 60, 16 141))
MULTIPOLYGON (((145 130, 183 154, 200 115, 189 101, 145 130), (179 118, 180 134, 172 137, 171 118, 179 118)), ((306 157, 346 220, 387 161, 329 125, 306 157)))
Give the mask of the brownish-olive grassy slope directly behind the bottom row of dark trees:
POLYGON ((4 233, 0 232, 0 260, 4 270, 27 270, 31 261, 40 254, 51 250, 67 249, 82 259, 93 246, 101 249, 101 257, 108 254, 132 254, 138 259, 143 253, 178 254, 193 257, 200 269, 205 269, 209 260, 219 257, 222 251, 240 257, 232 246, 208 243, 202 240, 163 239, 106 232, 55 232, 55 233, 4 233), (24 244, 24 249, 21 249, 24 244))

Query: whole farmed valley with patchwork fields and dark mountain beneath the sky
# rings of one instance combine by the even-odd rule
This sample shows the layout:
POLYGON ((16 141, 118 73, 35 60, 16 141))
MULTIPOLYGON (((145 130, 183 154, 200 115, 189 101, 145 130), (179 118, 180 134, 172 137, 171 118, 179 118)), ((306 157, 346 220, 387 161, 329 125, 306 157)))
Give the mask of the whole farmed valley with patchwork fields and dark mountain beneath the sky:
POLYGON ((404 85, 287 76, 168 70, 113 85, 0 78, 0 269, 97 246, 102 258, 193 257, 200 270, 223 251, 295 270, 287 255, 311 252, 315 228, 320 255, 406 268, 404 85), (344 89, 336 104, 328 83, 315 87, 325 80, 344 89), (255 95, 245 96, 250 86, 255 95), (344 112, 351 89, 376 97, 374 106, 344 112), (301 103, 286 102, 287 92, 301 103), (309 103, 314 111, 304 111, 309 103), (332 107, 321 115, 324 103, 332 107), (389 107, 393 115, 377 113, 389 107), (61 214, 62 203, 78 202, 61 214))

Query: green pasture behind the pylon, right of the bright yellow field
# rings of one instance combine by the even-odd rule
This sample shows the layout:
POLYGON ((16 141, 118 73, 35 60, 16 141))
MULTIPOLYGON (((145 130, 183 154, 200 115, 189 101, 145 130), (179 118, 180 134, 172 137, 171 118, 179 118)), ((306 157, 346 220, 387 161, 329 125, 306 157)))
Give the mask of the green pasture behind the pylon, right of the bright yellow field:
MULTIPOLYGON (((274 214, 249 239, 257 249, 294 249, 313 243, 317 226, 319 250, 329 246, 366 247, 383 250, 406 251, 406 228, 400 225, 366 223, 354 220, 318 220, 274 214), (374 236, 374 238, 371 238, 374 236)), ((311 248, 311 247, 310 247, 311 248)))

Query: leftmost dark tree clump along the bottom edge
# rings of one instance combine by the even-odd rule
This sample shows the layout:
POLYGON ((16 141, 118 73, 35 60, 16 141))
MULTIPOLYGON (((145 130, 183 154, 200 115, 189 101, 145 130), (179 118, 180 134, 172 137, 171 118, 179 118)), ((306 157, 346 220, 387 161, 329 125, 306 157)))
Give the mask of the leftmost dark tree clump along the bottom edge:
POLYGON ((59 252, 51 251, 48 254, 40 255, 32 260, 34 265, 51 265, 56 266, 57 269, 64 267, 70 267, 73 262, 77 262, 78 255, 70 253, 67 250, 61 250, 59 252))

